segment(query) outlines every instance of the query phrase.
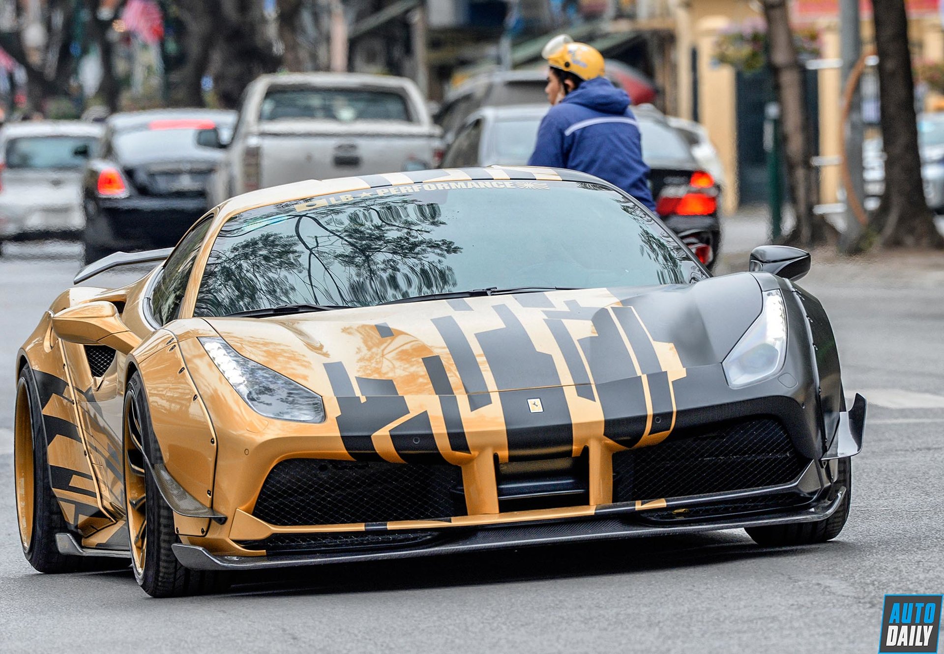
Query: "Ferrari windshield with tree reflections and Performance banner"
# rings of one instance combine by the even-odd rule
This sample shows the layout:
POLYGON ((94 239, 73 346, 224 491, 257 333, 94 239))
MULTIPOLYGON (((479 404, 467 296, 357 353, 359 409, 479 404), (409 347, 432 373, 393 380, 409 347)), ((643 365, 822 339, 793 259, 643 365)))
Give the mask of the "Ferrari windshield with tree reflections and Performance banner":
POLYGON ((244 211, 213 243, 194 314, 370 306, 484 288, 684 284, 687 249, 596 184, 468 181, 244 211))

